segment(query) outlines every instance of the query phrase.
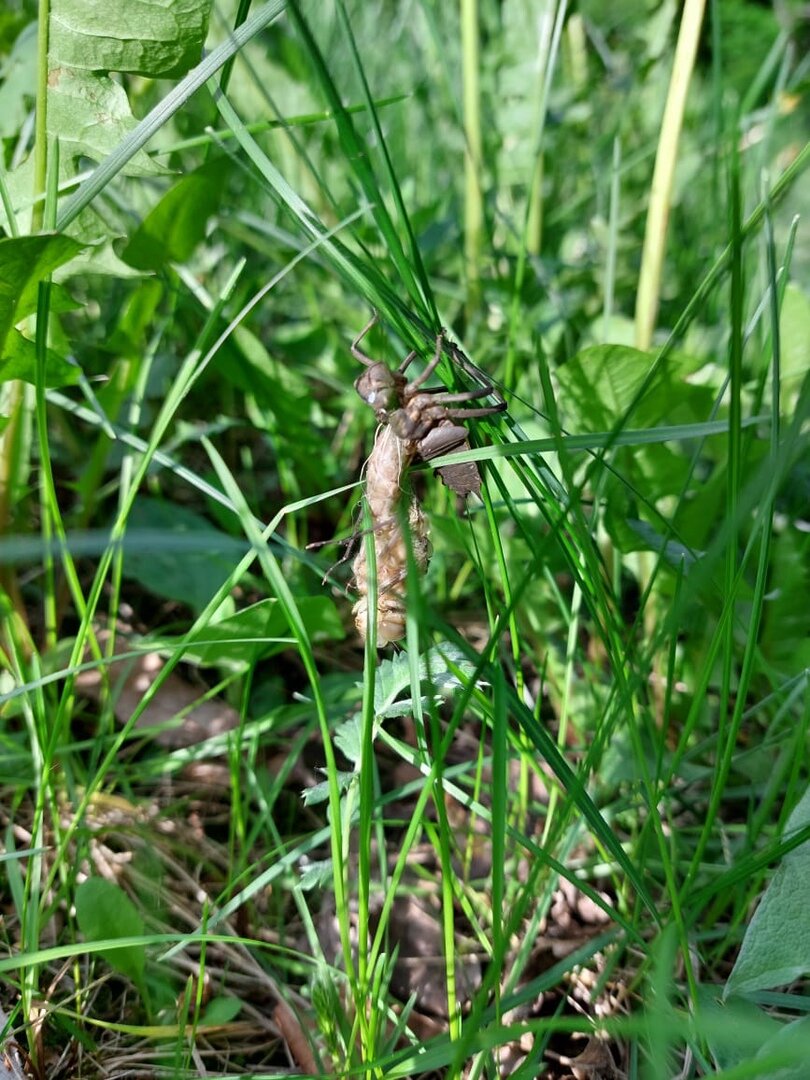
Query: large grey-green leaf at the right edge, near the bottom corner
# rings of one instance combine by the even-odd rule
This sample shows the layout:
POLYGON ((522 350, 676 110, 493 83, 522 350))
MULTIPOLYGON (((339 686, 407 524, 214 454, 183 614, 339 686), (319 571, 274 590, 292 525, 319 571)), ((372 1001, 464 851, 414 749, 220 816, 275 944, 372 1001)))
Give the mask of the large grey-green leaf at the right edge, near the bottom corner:
MULTIPOLYGON (((810 787, 785 834, 810 824, 810 787)), ((724 996, 784 986, 810 972, 810 842, 789 851, 748 923, 724 996)))

